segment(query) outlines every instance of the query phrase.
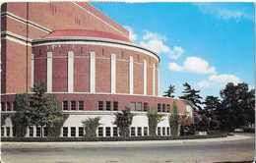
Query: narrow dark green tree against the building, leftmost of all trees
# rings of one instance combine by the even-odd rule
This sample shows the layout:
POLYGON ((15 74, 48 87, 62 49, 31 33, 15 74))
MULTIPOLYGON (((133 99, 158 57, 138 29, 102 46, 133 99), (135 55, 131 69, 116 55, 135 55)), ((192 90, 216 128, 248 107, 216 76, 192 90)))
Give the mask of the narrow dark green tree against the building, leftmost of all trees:
POLYGON ((16 113, 11 116, 12 124, 15 131, 15 136, 26 136, 29 126, 30 117, 29 111, 30 97, 27 93, 16 94, 14 107, 16 113))

